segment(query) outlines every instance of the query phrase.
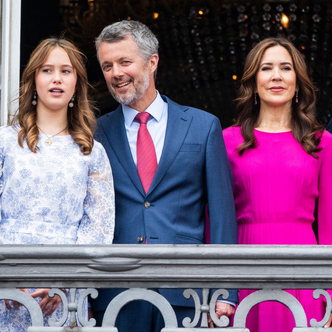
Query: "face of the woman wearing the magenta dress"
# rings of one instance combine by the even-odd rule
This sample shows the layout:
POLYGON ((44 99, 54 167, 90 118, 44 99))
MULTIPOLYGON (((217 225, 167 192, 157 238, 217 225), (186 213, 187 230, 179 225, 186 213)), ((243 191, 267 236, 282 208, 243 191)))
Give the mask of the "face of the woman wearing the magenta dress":
POLYGON ((288 50, 276 45, 267 48, 256 74, 261 107, 290 107, 295 94, 296 74, 288 50))

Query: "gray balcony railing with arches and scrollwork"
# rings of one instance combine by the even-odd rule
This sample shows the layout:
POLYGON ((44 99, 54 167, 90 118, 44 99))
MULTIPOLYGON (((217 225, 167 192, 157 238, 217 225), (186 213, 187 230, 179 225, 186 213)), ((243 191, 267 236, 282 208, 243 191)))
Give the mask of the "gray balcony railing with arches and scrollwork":
MULTIPOLYGON (((245 321, 250 309, 263 301, 278 301, 287 306, 295 320, 293 332, 327 332, 323 328, 330 316, 331 297, 324 289, 332 284, 330 246, 239 246, 239 245, 112 245, 112 246, 0 246, 0 299, 22 303, 29 311, 32 326, 28 332, 116 332, 115 320, 127 303, 143 299, 153 303, 163 315, 162 332, 194 332, 207 329, 207 313, 216 326, 214 332, 249 332, 245 321), (43 327, 41 309, 30 295, 16 288, 51 288, 63 301, 63 317, 43 327), (59 288, 85 289, 78 303, 68 303, 59 288), (102 327, 82 315, 84 298, 97 297, 96 288, 128 288, 109 304, 102 327), (183 288, 193 297, 196 315, 184 328, 178 327, 171 305, 150 288, 183 288), (225 289, 258 289, 238 306, 234 327, 228 318, 217 319, 215 301, 225 289), (203 289, 203 303, 193 289, 203 289), (218 289, 209 301, 209 289, 218 289), (315 289, 314 298, 323 295, 327 308, 324 319, 310 319, 309 326, 299 301, 283 289, 315 289), (71 327, 63 327, 68 312, 71 327), (77 326, 75 313, 79 320, 77 326), (200 326, 197 326, 199 318, 200 326)), ((51 296, 51 295, 50 295, 51 296)), ((71 296, 70 298, 74 298, 71 296)))

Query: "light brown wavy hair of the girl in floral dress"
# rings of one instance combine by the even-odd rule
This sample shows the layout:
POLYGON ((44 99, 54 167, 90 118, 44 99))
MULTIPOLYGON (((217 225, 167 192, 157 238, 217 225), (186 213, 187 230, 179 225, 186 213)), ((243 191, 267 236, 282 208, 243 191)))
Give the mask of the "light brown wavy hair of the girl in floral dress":
MULTIPOLYGON (((89 91, 92 89, 88 83, 85 69, 85 55, 71 42, 63 38, 48 38, 42 40, 31 53, 29 62, 25 67, 20 85, 19 110, 12 124, 19 124, 18 143, 23 147, 26 139, 29 149, 37 152, 39 130, 36 124, 37 107, 32 105, 35 87, 36 70, 43 64, 49 52, 54 47, 63 48, 76 70, 77 81, 74 106, 68 107, 68 132, 73 140, 80 146, 83 154, 88 155, 93 148, 93 133, 96 128, 95 109, 89 100, 89 91)), ((38 100, 37 100, 38 105, 38 100)))

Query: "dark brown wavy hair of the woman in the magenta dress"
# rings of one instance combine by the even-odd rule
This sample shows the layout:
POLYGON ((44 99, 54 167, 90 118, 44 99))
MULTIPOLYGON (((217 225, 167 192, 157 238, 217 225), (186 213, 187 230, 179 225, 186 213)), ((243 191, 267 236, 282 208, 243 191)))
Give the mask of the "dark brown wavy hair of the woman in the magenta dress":
POLYGON ((296 86, 299 90, 299 102, 295 103, 295 98, 293 98, 291 104, 292 134, 307 153, 314 158, 318 158, 315 152, 322 150, 322 148, 318 148, 318 144, 324 126, 318 124, 316 119, 316 88, 308 77, 307 67, 302 54, 289 40, 283 37, 270 37, 260 41, 245 59, 241 86, 238 91, 238 98, 235 99, 238 118, 234 126, 241 126, 241 134, 244 138, 244 142, 237 147, 237 150, 242 155, 245 150, 258 146, 254 135, 254 127, 260 110, 258 94, 256 94, 257 105, 254 105, 254 92, 257 91, 256 74, 264 51, 277 45, 285 47, 290 53, 296 74, 296 86))

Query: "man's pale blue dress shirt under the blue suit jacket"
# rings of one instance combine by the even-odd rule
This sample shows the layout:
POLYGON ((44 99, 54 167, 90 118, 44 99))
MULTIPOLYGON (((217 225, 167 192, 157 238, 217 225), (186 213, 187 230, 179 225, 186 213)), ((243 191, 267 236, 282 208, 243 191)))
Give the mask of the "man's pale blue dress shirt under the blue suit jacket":
MULTIPOLYGON (((139 123, 134 120, 134 118, 139 112, 126 105, 122 105, 122 112, 124 114, 124 126, 129 142, 132 159, 134 160, 134 163, 137 167, 136 142, 139 123)), ((159 164, 161 152, 163 151, 165 141, 168 105, 162 100, 158 91, 156 99, 145 110, 145 112, 151 114, 149 120, 147 121, 146 127, 151 135, 154 148, 156 150, 157 163, 159 164)), ((218 302, 229 303, 233 306, 235 306, 236 304, 233 301, 227 300, 218 300, 218 302)))

